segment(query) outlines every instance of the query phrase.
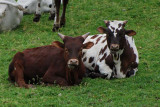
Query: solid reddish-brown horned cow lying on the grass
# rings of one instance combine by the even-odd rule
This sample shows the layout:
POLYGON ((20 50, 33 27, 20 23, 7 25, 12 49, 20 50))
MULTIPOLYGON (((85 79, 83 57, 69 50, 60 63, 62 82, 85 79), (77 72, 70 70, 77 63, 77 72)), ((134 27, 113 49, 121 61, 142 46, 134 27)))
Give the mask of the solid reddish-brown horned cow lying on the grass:
POLYGON ((80 84, 85 74, 82 49, 92 45, 90 42, 83 44, 88 35, 73 38, 59 33, 64 44, 56 41, 54 45, 16 53, 9 65, 9 80, 25 88, 32 86, 28 83, 37 83, 39 78, 44 83, 60 86, 80 84))

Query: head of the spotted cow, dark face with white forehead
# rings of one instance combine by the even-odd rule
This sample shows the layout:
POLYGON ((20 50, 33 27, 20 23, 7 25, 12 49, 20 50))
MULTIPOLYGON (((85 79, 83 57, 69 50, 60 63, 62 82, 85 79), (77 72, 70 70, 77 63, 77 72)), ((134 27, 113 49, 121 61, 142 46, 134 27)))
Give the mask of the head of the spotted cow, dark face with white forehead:
POLYGON ((107 34, 108 46, 112 53, 124 48, 125 35, 136 35, 134 30, 125 30, 127 21, 104 21, 107 28, 99 27, 100 33, 107 34))

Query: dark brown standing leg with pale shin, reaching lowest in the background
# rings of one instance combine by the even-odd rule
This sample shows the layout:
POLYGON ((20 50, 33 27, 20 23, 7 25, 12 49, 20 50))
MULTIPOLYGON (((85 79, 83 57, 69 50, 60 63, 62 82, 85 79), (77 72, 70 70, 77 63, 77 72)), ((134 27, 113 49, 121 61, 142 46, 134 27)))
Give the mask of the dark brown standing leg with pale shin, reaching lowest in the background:
POLYGON ((53 32, 58 31, 58 29, 60 28, 60 18, 59 18, 60 4, 61 0, 55 0, 56 15, 52 29, 53 32))

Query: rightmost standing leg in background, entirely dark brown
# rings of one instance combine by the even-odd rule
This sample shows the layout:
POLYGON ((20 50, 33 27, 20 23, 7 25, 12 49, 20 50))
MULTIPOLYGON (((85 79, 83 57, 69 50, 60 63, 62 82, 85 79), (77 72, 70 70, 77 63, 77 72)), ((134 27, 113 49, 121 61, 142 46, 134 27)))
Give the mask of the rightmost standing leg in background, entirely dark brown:
POLYGON ((64 26, 66 22, 65 14, 66 14, 67 4, 68 4, 68 0, 63 0, 63 13, 61 16, 60 26, 64 26))

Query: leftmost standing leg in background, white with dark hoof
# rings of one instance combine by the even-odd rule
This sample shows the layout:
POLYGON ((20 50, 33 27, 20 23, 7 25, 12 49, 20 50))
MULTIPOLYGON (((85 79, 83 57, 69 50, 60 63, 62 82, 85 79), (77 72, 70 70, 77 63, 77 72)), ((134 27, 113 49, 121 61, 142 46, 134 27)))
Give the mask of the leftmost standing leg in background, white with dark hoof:
POLYGON ((37 0, 36 13, 33 19, 34 22, 39 22, 41 18, 41 1, 42 0, 37 0))

